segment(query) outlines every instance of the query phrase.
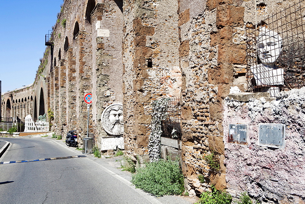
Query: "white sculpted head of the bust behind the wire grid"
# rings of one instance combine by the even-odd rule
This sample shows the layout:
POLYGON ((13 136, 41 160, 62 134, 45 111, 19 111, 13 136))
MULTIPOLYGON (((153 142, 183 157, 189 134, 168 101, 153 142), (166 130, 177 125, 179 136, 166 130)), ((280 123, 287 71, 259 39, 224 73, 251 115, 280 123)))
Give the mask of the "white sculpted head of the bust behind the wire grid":
POLYGON ((274 63, 282 51, 282 38, 273 31, 261 30, 257 39, 257 53, 263 64, 274 63))

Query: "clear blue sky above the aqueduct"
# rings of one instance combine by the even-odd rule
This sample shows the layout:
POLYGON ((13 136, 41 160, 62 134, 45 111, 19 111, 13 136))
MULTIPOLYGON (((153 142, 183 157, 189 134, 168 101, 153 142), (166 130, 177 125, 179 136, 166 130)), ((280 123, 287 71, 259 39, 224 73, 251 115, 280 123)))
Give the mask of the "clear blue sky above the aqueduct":
POLYGON ((63 0, 0 0, 2 94, 34 82, 63 0))

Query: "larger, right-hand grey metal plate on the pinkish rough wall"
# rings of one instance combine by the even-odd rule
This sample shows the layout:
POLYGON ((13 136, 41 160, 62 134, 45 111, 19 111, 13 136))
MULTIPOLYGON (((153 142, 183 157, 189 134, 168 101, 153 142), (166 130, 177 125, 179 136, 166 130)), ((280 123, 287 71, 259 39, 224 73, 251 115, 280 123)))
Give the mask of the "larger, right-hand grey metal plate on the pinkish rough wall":
POLYGON ((283 148, 285 144, 285 125, 275 123, 260 123, 258 145, 283 148))

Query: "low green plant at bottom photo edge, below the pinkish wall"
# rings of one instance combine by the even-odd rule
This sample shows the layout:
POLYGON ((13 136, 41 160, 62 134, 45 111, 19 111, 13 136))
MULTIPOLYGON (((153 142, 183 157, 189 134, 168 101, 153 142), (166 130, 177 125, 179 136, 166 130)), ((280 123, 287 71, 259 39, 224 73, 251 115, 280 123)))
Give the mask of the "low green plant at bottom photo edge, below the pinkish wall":
POLYGON ((203 192, 200 195, 199 203, 201 204, 230 204, 232 202, 232 196, 225 192, 219 191, 215 186, 211 186, 212 192, 203 192))

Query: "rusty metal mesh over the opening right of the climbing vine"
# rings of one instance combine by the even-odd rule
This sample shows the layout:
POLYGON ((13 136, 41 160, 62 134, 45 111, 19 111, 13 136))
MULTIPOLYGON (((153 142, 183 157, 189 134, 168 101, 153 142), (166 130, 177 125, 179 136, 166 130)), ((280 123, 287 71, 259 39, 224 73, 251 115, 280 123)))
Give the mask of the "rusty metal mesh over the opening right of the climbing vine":
POLYGON ((181 140, 181 104, 179 98, 171 98, 168 102, 167 119, 161 122, 161 137, 181 140), (175 129, 173 131, 173 129, 175 129))

